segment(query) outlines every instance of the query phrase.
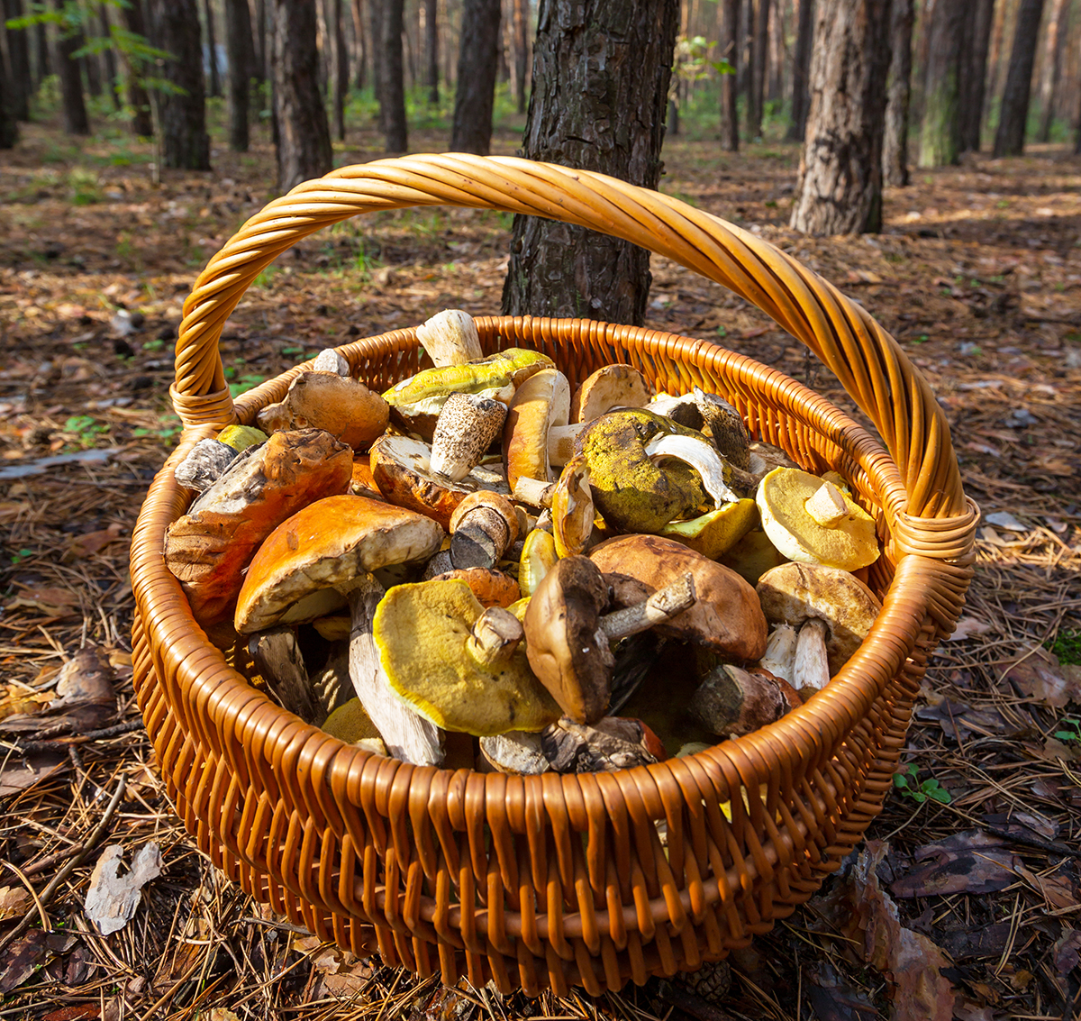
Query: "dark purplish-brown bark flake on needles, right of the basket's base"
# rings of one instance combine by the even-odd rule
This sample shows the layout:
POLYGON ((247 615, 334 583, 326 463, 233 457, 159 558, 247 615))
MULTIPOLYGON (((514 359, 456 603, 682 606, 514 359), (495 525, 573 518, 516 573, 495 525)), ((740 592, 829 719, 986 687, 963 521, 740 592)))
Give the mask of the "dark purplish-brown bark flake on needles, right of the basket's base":
POLYGON ((930 897, 942 893, 990 893, 1010 886, 1017 877, 1020 859, 1003 841, 982 830, 967 830, 946 840, 925 844, 912 852, 926 864, 894 879, 894 897, 930 897))

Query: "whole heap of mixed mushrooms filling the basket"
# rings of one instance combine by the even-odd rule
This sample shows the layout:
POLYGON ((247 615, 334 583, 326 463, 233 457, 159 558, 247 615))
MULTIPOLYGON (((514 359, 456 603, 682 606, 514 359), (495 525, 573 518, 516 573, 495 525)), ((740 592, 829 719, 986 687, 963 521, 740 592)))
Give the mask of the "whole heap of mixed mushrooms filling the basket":
POLYGON ((256 425, 197 443, 165 562, 254 686, 417 765, 620 769, 801 705, 880 609, 848 482, 631 366, 572 393, 450 310, 385 394, 323 352, 256 425))

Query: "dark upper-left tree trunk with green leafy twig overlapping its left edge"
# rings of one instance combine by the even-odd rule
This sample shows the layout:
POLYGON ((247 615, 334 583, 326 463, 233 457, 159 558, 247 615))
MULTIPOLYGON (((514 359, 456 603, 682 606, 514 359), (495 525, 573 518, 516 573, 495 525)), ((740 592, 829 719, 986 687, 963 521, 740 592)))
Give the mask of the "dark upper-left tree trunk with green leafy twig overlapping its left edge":
POLYGON ((161 77, 178 90, 155 92, 162 165, 210 170, 199 8, 196 0, 155 0, 154 11, 155 45, 174 57, 164 62, 161 77))

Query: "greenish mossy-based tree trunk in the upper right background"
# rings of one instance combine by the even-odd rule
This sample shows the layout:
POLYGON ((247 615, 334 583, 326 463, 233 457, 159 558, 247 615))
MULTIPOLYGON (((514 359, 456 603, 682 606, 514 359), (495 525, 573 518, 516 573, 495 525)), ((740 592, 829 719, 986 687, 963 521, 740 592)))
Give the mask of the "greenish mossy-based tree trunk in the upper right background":
POLYGON ((961 151, 959 72, 966 0, 936 0, 927 25, 920 167, 947 167, 961 151))

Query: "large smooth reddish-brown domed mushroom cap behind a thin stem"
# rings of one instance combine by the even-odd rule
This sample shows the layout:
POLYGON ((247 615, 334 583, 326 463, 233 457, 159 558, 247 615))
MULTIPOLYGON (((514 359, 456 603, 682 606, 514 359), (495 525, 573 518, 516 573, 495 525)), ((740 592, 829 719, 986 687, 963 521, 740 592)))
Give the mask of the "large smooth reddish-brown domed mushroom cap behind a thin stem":
POLYGON ((659 535, 618 535, 593 546, 589 559, 613 585, 614 601, 623 605, 637 602, 643 587, 649 595, 690 571, 697 601, 657 631, 737 661, 757 660, 765 651, 765 616, 755 589, 735 571, 682 543, 659 535))

